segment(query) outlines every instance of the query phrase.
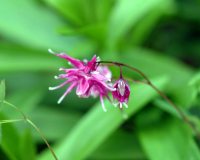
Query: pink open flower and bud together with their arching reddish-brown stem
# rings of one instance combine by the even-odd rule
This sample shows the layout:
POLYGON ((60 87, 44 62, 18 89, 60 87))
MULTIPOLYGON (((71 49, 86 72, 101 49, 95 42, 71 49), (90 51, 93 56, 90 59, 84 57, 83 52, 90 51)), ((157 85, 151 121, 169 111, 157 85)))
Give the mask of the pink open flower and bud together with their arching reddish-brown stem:
MULTIPOLYGON (((106 111, 106 108, 104 106, 103 98, 107 97, 109 99, 109 92, 112 93, 113 99, 117 101, 117 105, 120 109, 123 108, 123 105, 126 108, 128 108, 127 103, 130 96, 130 88, 127 81, 122 76, 122 67, 126 67, 142 76, 145 79, 145 83, 143 83, 149 85, 162 98, 164 98, 179 113, 182 119, 186 123, 188 123, 188 125, 193 129, 193 131, 197 135, 200 135, 199 132, 196 130, 196 127, 191 123, 190 119, 187 117, 187 115, 185 115, 184 112, 182 112, 179 109, 179 107, 176 106, 176 104, 165 95, 165 93, 160 91, 141 70, 132 67, 128 64, 116 61, 98 61, 98 58, 96 56, 93 56, 93 58, 90 61, 80 61, 64 53, 55 54, 52 50, 49 50, 49 52, 58 57, 66 59, 68 62, 70 62, 70 64, 73 65, 73 68, 69 69, 60 68, 60 70, 64 71, 64 73, 60 74, 59 76, 55 76, 55 78, 64 79, 65 81, 59 86, 49 88, 50 90, 55 90, 67 84, 70 84, 67 90, 64 92, 64 94, 58 100, 58 103, 61 103, 64 97, 76 87, 76 94, 79 97, 86 98, 89 96, 99 96, 104 111, 106 111), (110 83, 110 70, 106 66, 99 66, 100 64, 109 64, 120 68, 120 78, 114 83, 114 85, 110 83)), ((126 114, 124 114, 124 118, 127 118, 126 114)))

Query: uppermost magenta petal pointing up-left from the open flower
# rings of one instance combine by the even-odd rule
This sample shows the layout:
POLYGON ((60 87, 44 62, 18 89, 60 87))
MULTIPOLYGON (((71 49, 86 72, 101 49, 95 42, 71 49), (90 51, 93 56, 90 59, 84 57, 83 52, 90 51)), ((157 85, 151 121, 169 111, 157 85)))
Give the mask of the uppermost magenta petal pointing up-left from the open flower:
POLYGON ((66 60, 68 60, 73 66, 77 67, 77 68, 83 68, 84 64, 82 61, 76 59, 76 58, 72 58, 64 53, 60 53, 60 54, 56 54, 58 57, 64 58, 66 60))

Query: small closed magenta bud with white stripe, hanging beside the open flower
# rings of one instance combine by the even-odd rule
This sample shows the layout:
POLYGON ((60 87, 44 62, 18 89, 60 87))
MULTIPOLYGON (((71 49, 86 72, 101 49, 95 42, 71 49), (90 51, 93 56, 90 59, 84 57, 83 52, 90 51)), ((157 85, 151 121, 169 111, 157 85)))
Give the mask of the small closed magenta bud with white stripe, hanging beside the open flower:
POLYGON ((112 95, 113 99, 117 100, 117 105, 119 104, 120 108, 122 108, 122 105, 128 108, 127 103, 130 95, 130 88, 127 82, 123 78, 120 78, 115 82, 114 88, 116 90, 112 92, 112 95))

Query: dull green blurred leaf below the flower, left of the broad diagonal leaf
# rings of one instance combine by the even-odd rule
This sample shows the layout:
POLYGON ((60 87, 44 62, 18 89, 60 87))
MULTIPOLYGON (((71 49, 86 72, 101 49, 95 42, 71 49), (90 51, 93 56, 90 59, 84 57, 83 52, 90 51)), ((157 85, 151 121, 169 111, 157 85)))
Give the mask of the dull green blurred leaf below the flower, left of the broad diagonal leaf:
MULTIPOLYGON (((80 120, 80 117, 78 112, 68 111, 65 113, 61 109, 54 109, 50 106, 38 106, 30 113, 31 120, 37 124, 50 141, 65 137, 80 120)), ((42 141, 38 133, 34 131, 33 134, 37 141, 42 141)))

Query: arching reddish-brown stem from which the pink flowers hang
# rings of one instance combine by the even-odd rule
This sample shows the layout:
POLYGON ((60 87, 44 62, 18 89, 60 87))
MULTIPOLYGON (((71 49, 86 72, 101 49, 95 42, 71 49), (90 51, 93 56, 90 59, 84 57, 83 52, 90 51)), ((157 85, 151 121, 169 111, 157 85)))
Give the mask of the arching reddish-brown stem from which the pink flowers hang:
POLYGON ((127 64, 124 63, 119 63, 119 62, 112 62, 112 61, 100 61, 98 63, 104 63, 104 64, 113 64, 116 65, 118 67, 127 67, 129 69, 131 69, 132 71, 137 72, 139 75, 141 75, 146 82, 143 82, 147 85, 149 85, 151 88, 153 88, 162 98, 164 98, 181 116, 181 118, 190 126, 190 128, 196 133, 196 135, 198 136, 198 138, 200 138, 200 133, 198 132, 197 128, 194 126, 194 124, 190 121, 190 119, 181 111, 181 109, 176 106, 176 104, 174 104, 161 90, 159 90, 150 80, 149 78, 139 69, 129 66, 127 64))

